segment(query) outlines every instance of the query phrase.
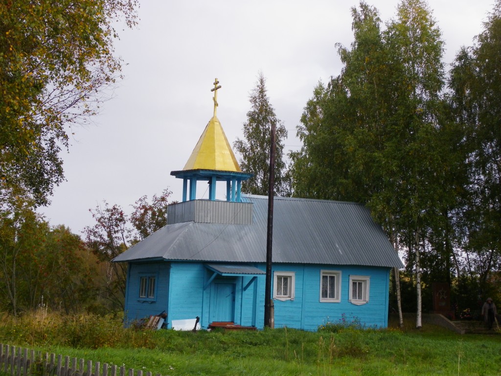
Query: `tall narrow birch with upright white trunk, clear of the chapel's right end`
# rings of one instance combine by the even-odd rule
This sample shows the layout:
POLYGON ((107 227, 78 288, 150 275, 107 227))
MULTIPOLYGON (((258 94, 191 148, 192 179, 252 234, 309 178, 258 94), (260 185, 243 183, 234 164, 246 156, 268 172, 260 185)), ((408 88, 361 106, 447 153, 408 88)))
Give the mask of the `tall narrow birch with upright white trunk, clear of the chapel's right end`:
POLYGON ((419 240, 436 218, 435 203, 444 199, 440 145, 441 91, 444 86, 441 33, 426 3, 403 0, 396 19, 388 25, 385 42, 391 69, 393 160, 398 166, 396 200, 398 226, 414 234, 417 292, 416 327, 421 321, 421 266, 419 240), (395 142, 396 141, 396 142, 395 142), (397 144, 398 142, 398 144, 397 144))

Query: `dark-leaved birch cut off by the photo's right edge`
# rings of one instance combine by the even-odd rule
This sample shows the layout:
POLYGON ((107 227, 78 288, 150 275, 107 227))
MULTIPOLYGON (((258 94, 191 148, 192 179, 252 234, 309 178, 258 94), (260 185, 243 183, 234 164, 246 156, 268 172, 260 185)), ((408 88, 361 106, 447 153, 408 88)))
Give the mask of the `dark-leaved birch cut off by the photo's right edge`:
MULTIPOLYGON (((471 47, 456 55, 450 75, 456 121, 464 126, 469 153, 458 229, 467 270, 487 293, 501 269, 501 2, 495 2, 471 47)), ((484 296, 485 298, 486 296, 484 296)))

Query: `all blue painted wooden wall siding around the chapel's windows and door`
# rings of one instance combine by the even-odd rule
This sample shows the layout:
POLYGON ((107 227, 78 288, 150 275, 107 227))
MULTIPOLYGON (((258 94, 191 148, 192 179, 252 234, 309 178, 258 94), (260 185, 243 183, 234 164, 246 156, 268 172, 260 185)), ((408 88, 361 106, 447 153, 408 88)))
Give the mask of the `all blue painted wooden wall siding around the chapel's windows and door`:
MULTIPOLYGON (((254 265, 265 270, 265 264, 254 265)), ((294 300, 274 300, 275 326, 316 330, 319 325, 337 322, 345 317, 348 321, 355 318, 366 326, 386 327, 388 324, 388 287, 389 268, 279 264, 272 271, 295 273, 294 300), (341 272, 341 301, 320 302, 321 270, 341 272), (350 275, 370 276, 369 302, 355 305, 349 302, 350 275)), ((167 311, 168 327, 172 320, 200 317, 200 325, 207 328, 210 323, 211 304, 214 304, 214 284, 234 284, 233 321, 244 326, 264 327, 265 276, 258 276, 244 291, 252 279, 249 276, 225 277, 218 275, 204 289, 212 276, 203 263, 198 262, 157 262, 129 264, 126 314, 130 320, 167 311), (155 301, 139 298, 139 279, 141 275, 157 275, 155 301)), ((273 280, 272 280, 273 281, 273 280)), ((275 288, 275 286, 273 286, 275 288)), ((213 309, 213 307, 212 307, 213 309)))

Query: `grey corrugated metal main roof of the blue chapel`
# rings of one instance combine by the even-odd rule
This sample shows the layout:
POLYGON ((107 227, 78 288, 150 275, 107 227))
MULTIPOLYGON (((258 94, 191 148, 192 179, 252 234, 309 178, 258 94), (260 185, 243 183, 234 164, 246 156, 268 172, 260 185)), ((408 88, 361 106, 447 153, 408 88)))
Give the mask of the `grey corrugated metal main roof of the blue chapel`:
MULTIPOLYGON (((268 198, 253 203, 252 225, 187 222, 167 225, 114 261, 151 258, 266 262, 268 198)), ((402 267, 381 227, 364 206, 295 198, 274 199, 273 262, 402 267)))

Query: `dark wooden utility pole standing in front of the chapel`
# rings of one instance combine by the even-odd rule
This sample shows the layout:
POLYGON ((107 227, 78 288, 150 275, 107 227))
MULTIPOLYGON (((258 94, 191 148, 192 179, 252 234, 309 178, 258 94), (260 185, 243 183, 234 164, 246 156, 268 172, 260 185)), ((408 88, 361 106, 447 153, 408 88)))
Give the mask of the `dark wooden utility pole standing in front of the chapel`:
POLYGON ((273 195, 275 185, 275 122, 272 122, 272 145, 270 148, 270 179, 268 184, 268 232, 266 237, 266 285, 265 326, 273 328, 272 317, 272 243, 273 243, 273 195))

